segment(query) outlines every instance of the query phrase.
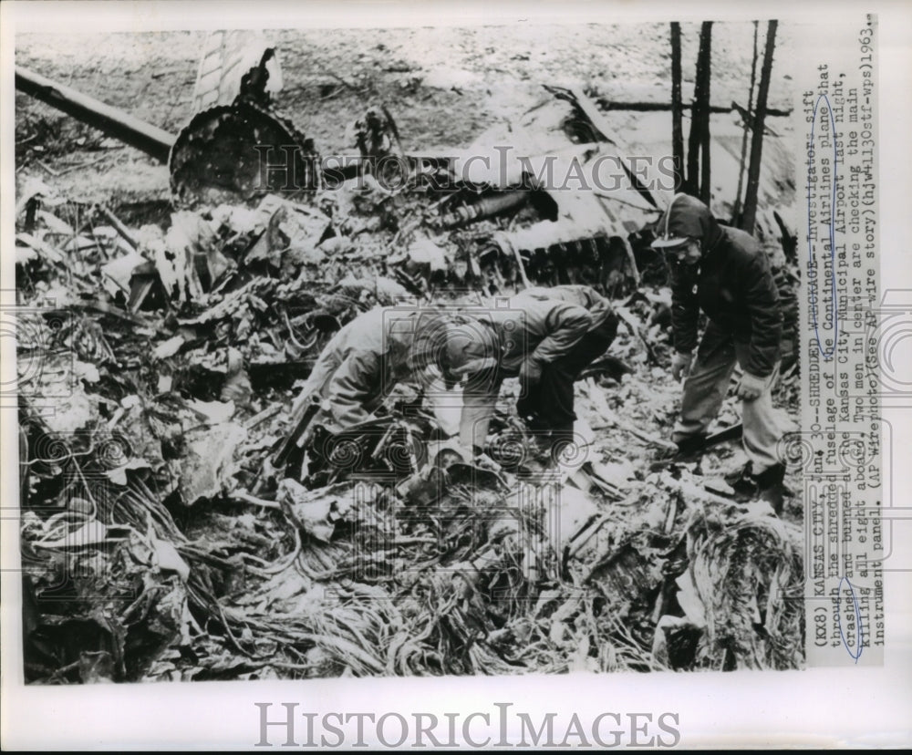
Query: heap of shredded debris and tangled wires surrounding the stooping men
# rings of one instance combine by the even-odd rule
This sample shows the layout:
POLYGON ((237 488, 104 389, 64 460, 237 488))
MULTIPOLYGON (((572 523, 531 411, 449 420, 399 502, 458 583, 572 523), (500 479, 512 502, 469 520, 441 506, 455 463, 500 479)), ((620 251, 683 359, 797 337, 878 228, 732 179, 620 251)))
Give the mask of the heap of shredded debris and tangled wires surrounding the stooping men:
POLYGON ((582 461, 547 464, 507 397, 490 468, 443 471, 389 409, 429 451, 407 473, 251 492, 337 328, 468 269, 471 234, 369 193, 163 230, 20 191, 27 680, 800 666, 800 530, 648 471, 678 390, 658 289, 580 386, 582 461))

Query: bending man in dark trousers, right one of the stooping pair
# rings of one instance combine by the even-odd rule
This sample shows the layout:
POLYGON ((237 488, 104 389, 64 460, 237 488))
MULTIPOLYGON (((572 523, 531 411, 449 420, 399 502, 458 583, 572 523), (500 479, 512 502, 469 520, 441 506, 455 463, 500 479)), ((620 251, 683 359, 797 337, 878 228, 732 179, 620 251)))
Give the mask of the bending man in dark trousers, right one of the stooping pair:
POLYGON ((550 432, 554 446, 573 437, 574 382, 617 334, 607 299, 586 285, 530 288, 510 306, 492 307, 451 332, 444 375, 464 378, 460 441, 484 448, 503 378, 519 378, 517 411, 550 432))

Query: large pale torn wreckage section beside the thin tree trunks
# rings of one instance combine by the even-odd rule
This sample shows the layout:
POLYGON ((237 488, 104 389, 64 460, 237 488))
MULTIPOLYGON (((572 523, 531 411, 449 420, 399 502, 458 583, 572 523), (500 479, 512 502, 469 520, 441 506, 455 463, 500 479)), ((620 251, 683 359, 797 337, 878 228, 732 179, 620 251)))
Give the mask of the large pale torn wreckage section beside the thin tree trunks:
POLYGON ((522 228, 482 241, 482 261, 496 253, 504 277, 523 284, 629 293, 640 283, 635 248, 647 253, 658 201, 594 103, 578 90, 546 89, 551 97, 509 132, 490 129, 452 158, 463 168, 454 182, 471 191, 445 199, 441 222, 464 227, 531 207, 522 228))

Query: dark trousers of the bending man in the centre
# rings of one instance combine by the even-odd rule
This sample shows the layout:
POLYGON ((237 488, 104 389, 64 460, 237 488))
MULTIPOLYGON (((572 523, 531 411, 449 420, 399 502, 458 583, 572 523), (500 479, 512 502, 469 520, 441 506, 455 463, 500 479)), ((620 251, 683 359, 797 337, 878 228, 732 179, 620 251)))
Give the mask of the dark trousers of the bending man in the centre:
POLYGON ((605 323, 586 333, 563 357, 545 365, 537 383, 522 387, 522 396, 516 402, 520 417, 534 418, 535 429, 571 432, 576 419, 573 400, 576 378, 605 354, 616 335, 617 316, 610 315, 605 323))

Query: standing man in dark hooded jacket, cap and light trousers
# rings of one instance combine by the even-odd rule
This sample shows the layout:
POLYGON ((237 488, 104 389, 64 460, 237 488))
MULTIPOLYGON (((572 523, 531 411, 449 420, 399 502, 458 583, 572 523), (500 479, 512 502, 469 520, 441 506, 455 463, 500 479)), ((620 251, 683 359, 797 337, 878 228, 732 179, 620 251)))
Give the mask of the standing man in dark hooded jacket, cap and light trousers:
POLYGON ((675 196, 659 231, 652 245, 667 253, 671 270, 672 376, 687 378, 673 440, 684 454, 700 448, 740 365, 736 391, 751 461, 742 487, 753 486, 779 512, 782 429, 770 391, 779 371, 782 312, 769 260, 749 233, 721 226, 687 194, 675 196), (700 310, 709 322, 698 348, 700 310))

